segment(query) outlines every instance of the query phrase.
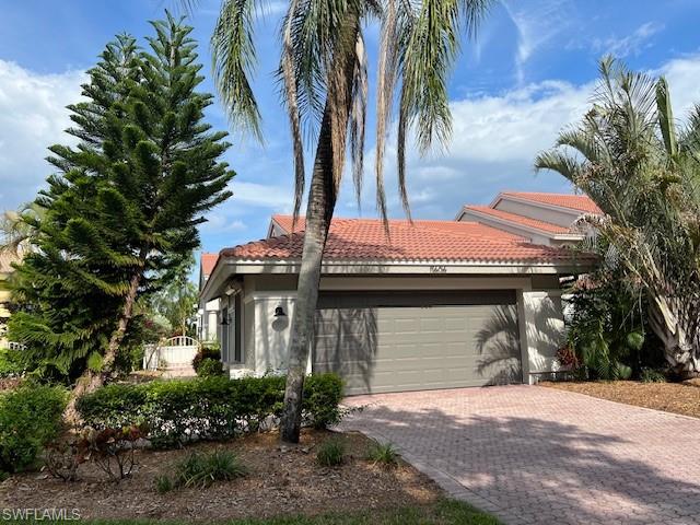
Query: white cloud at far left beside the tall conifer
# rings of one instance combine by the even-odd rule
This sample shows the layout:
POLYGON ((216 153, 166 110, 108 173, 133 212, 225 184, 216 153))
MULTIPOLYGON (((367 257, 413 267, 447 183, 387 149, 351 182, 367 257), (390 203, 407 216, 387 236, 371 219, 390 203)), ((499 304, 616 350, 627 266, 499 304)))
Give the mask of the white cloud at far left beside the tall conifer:
POLYGON ((0 60, 0 209, 34 198, 51 173, 44 158, 52 143, 74 143, 66 105, 80 98, 85 74, 40 74, 0 60))

